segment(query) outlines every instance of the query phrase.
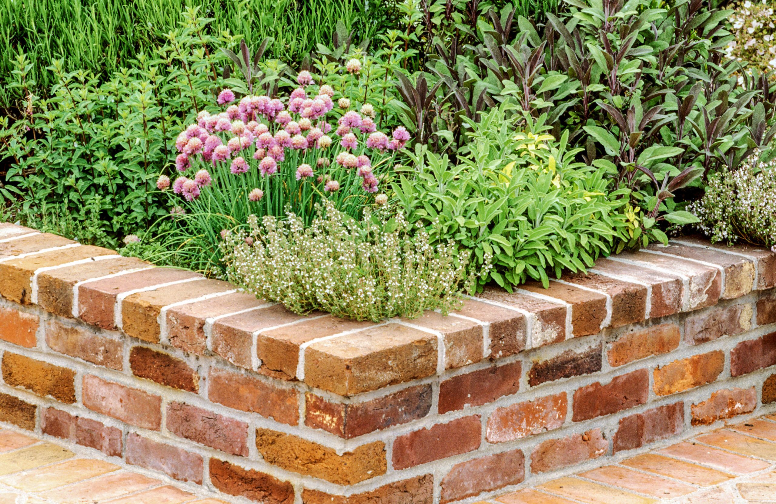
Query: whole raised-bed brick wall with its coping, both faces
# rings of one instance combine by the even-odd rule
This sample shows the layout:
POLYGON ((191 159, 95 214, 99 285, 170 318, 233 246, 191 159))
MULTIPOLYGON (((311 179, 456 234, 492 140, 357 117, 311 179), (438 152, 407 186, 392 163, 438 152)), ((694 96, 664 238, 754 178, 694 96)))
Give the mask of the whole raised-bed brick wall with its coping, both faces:
POLYGON ((0 422, 224 499, 473 501, 776 408, 776 255, 695 238, 371 324, 0 224, 0 296, 0 422))

